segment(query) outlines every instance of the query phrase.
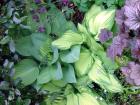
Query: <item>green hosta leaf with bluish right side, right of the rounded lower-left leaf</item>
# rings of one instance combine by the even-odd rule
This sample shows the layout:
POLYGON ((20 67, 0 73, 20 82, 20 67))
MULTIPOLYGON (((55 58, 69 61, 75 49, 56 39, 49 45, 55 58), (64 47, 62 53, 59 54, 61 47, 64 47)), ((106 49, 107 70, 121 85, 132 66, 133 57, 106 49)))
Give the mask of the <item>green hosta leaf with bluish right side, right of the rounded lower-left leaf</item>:
POLYGON ((63 78, 61 65, 58 62, 57 65, 51 65, 44 68, 37 77, 37 84, 48 83, 51 80, 60 80, 63 78))

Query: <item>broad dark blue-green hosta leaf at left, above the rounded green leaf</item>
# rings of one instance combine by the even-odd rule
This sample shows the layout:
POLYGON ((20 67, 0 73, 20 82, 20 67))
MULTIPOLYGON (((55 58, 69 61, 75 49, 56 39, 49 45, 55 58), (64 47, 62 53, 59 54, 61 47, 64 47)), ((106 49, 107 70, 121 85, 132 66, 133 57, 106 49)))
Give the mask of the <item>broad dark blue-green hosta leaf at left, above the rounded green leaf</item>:
POLYGON ((40 47, 46 41, 46 36, 41 33, 33 33, 31 36, 26 36, 16 40, 16 51, 23 56, 33 56, 39 61, 42 61, 43 56, 40 53, 40 47))

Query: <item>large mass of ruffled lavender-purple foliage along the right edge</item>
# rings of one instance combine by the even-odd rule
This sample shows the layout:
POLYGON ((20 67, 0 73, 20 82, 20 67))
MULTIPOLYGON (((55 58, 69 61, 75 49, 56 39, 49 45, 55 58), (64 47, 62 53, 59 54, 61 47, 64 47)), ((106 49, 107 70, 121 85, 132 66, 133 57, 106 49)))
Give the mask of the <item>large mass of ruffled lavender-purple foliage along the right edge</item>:
POLYGON ((140 0, 126 0, 124 7, 116 12, 116 23, 119 28, 117 36, 107 49, 111 59, 122 56, 125 49, 131 53, 131 61, 121 68, 126 81, 140 86, 140 0))

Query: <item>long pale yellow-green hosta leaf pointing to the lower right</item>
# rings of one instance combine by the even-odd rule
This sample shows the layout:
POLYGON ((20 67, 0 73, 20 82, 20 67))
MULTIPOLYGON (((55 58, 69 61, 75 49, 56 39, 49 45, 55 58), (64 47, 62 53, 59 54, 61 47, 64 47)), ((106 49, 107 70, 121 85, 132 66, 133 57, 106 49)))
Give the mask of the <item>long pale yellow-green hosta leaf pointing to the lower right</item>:
POLYGON ((95 58, 95 63, 93 64, 91 71, 88 73, 88 76, 107 91, 113 93, 123 91, 119 81, 113 76, 113 74, 109 74, 104 70, 102 62, 98 58, 95 58))

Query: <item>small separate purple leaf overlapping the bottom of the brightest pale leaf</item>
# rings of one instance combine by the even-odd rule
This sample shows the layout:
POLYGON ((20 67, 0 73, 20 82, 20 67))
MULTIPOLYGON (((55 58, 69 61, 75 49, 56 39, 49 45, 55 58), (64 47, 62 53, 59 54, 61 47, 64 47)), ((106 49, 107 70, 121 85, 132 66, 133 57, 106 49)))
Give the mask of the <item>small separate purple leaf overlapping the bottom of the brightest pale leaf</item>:
POLYGON ((99 40, 101 43, 106 42, 110 38, 113 37, 113 33, 107 29, 101 29, 100 35, 99 35, 99 40))

